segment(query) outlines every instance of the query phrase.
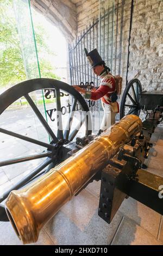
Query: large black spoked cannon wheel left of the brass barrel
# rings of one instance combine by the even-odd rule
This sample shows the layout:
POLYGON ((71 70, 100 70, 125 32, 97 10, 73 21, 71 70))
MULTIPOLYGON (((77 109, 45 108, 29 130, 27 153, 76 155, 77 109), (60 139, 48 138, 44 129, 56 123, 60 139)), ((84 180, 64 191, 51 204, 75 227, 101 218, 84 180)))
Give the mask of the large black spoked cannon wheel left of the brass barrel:
MULTIPOLYGON (((17 184, 15 184, 12 188, 10 188, 10 190, 5 191, 3 195, 1 195, 0 203, 2 203, 8 197, 9 193, 12 190, 17 190, 18 188, 22 187, 23 185, 35 179, 37 176, 48 172, 48 170, 53 168, 55 164, 58 164, 58 160, 57 160, 58 154, 60 155, 60 161, 63 161, 61 157, 62 155, 64 155, 64 153, 62 153, 61 150, 64 151, 64 147, 66 147, 67 143, 70 143, 73 141, 80 127, 84 123, 85 123, 85 135, 90 135, 92 132, 89 107, 87 106, 82 95, 80 95, 73 87, 71 87, 70 85, 64 82, 49 79, 49 78, 37 78, 37 79, 28 80, 28 81, 16 84, 15 86, 9 88, 3 94, 0 95, 0 114, 2 114, 5 111, 5 109, 7 109, 12 103, 17 101, 18 99, 21 99, 21 97, 24 97, 26 99, 32 111, 34 112, 36 117, 40 120, 42 126, 45 128, 47 135, 50 138, 50 142, 45 143, 37 139, 23 136, 16 132, 12 132, 0 127, 1 133, 4 133, 6 135, 46 148, 46 150, 43 150, 40 154, 35 154, 32 156, 23 156, 15 159, 0 161, 0 167, 2 167, 2 166, 8 166, 9 164, 27 162, 35 159, 41 159, 41 158, 45 159, 34 170, 31 170, 31 172, 27 176, 25 176, 25 178, 18 181, 17 184), (58 118, 57 134, 53 132, 53 130, 47 123, 46 119, 43 117, 42 113, 40 112, 39 108, 37 108, 34 100, 29 95, 30 93, 36 92, 37 90, 45 90, 45 89, 55 90, 55 101, 56 101, 55 105, 57 108, 56 112, 57 112, 57 118, 58 118), (62 129, 62 116, 58 114, 59 112, 61 112, 60 90, 61 92, 64 92, 72 96, 72 106, 71 106, 70 113, 68 115, 69 118, 67 120, 65 130, 62 129), (80 106, 82 113, 84 113, 84 118, 82 119, 82 121, 80 120, 79 123, 77 124, 77 127, 75 127, 75 129, 72 130, 71 124, 73 121, 74 111, 76 109, 77 104, 78 106, 80 106)), ((0 205, 0 221, 8 221, 8 217, 5 213, 5 209, 2 204, 0 205)))

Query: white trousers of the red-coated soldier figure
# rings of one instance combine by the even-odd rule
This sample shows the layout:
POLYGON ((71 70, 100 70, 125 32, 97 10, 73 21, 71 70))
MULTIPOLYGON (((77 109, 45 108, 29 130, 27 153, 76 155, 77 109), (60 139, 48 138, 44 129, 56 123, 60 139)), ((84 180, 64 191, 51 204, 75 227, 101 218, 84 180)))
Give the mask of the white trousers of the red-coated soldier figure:
POLYGON ((117 113, 112 112, 112 108, 109 104, 102 102, 102 106, 104 109, 104 115, 100 129, 102 131, 105 131, 111 125, 115 124, 115 116, 117 113))

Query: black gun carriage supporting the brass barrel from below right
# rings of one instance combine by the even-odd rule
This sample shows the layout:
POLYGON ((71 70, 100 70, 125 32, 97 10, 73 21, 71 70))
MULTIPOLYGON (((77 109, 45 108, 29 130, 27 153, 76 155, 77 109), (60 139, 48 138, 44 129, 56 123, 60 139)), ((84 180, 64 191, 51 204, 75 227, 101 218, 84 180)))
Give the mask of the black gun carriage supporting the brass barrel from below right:
POLYGON ((123 200, 128 197, 163 214, 160 192, 163 178, 149 173, 147 166, 143 164, 152 147, 152 133, 162 120, 162 112, 163 108, 160 108, 156 113, 151 113, 149 118, 143 121, 140 135, 123 145, 102 170, 98 215, 107 223, 112 221, 123 200), (146 170, 141 169, 145 167, 146 170))

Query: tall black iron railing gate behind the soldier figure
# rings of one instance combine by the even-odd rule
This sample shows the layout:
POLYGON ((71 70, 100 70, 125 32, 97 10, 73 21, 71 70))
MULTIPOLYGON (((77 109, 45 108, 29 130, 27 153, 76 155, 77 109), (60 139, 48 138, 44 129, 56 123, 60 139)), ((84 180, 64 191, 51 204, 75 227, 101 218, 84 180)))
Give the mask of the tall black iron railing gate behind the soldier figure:
MULTIPOLYGON (((71 84, 99 85, 99 77, 93 74, 84 48, 88 52, 97 48, 112 74, 121 74, 124 4, 125 1, 122 0, 121 5, 117 1, 116 7, 112 4, 107 9, 102 8, 99 17, 86 26, 73 44, 68 45, 71 84)), ((94 114, 102 110, 100 100, 87 100, 87 104, 94 114)))

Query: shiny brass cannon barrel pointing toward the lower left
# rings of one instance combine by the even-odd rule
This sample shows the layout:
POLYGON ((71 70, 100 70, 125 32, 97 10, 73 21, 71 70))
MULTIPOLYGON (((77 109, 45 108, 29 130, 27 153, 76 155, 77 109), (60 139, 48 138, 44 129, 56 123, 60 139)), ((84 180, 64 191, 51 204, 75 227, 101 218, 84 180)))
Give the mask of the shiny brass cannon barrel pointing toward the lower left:
POLYGON ((121 145, 140 132, 142 122, 127 115, 78 153, 20 191, 5 203, 8 217, 24 244, 36 242, 39 231, 71 198, 106 166, 121 145))

